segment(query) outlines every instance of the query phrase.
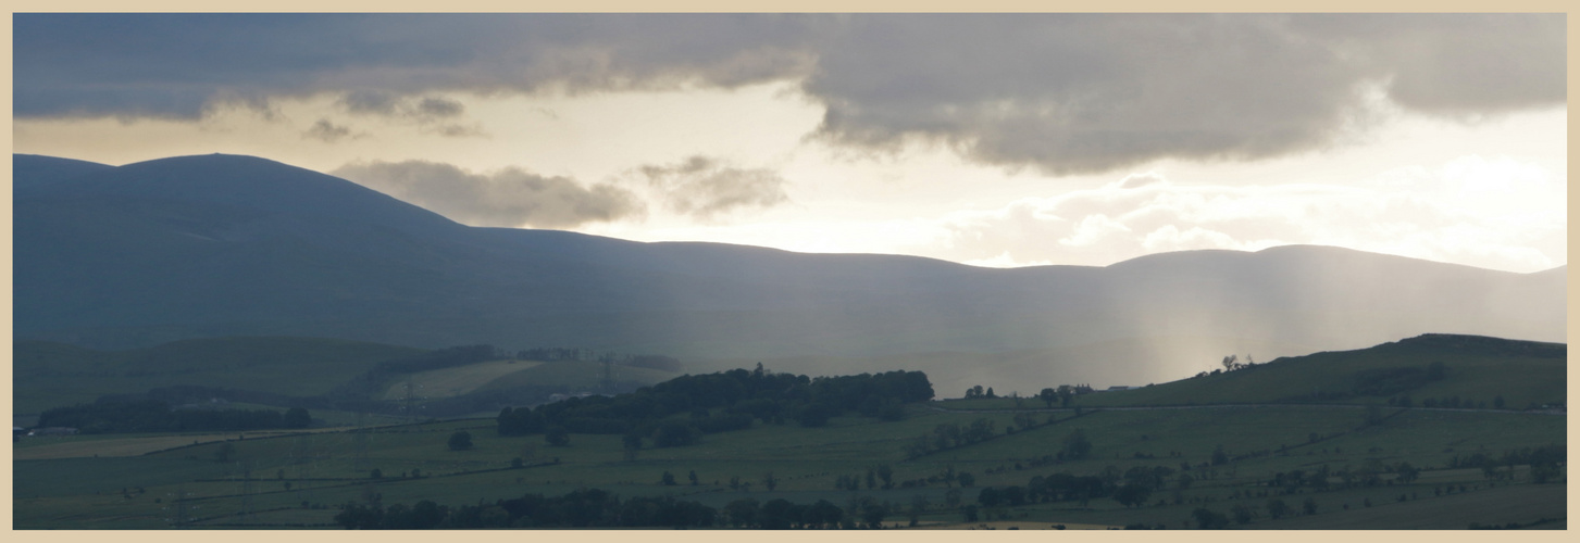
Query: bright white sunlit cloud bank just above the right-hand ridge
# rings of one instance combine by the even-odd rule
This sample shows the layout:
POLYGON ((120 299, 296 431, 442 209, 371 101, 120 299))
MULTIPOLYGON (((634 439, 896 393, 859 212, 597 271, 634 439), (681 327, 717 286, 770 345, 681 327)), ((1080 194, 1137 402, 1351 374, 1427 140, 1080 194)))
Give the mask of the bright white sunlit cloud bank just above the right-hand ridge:
POLYGON ((1567 262, 1566 200, 1558 174, 1474 155, 1364 186, 1180 185, 1149 172, 951 213, 937 221, 932 248, 916 251, 978 265, 1108 265, 1161 251, 1308 243, 1536 272, 1567 262))

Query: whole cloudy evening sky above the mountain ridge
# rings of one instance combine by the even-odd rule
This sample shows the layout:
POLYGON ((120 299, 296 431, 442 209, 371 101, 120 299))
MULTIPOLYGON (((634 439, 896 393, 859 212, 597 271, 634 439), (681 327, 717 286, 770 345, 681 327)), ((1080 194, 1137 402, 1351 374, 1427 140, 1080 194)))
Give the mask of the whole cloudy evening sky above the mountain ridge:
POLYGON ((972 265, 1567 264, 1563 14, 14 14, 13 150, 972 265))

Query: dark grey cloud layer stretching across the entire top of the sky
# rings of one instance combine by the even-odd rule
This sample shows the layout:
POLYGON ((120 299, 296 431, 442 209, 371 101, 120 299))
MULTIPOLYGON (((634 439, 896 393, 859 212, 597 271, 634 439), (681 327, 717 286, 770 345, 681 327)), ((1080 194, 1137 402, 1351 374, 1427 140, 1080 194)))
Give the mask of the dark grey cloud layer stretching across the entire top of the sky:
POLYGON ((17 14, 14 112, 376 88, 444 117, 425 93, 796 81, 826 140, 1071 174, 1319 148, 1365 126, 1368 90, 1436 115, 1563 104, 1564 39, 1563 14, 17 14))

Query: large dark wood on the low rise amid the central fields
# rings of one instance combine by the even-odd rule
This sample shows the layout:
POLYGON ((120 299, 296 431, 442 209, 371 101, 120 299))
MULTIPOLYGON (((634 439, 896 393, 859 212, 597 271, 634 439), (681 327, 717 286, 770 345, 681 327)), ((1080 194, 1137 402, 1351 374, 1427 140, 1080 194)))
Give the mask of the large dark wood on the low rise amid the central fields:
MULTIPOLYGON (((681 376, 618 396, 570 398, 537 409, 506 407, 499 412, 501 436, 550 433, 555 428, 580 434, 654 436, 654 445, 684 445, 694 439, 659 439, 656 431, 684 425, 711 434, 744 429, 754 420, 803 426, 826 425, 831 417, 856 410, 885 420, 904 418, 902 404, 932 399, 932 384, 920 371, 890 371, 841 377, 773 374, 732 369, 705 376, 681 376), (660 423, 690 414, 684 421, 660 423)), ((665 436, 694 434, 670 433, 665 436)))

